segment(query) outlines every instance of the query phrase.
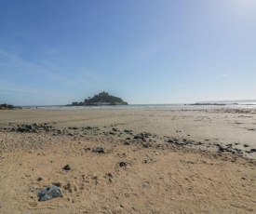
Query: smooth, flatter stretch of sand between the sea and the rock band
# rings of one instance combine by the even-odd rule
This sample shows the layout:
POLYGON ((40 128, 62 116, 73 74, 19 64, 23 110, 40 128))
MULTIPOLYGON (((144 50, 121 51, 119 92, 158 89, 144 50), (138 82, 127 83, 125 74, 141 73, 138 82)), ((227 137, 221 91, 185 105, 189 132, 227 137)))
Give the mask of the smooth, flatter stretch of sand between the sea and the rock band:
MULTIPOLYGON (((125 129, 133 131, 132 138, 141 133, 156 135, 151 139, 160 143, 238 154, 256 159, 256 113, 249 110, 161 111, 161 110, 10 110, 0 112, 0 131, 17 132, 19 126, 49 124, 50 135, 73 134, 93 126, 101 130, 99 136, 111 135, 125 141, 130 137, 125 129), (237 115, 236 115, 237 114, 237 115), (145 124, 145 121, 147 124, 145 124), (205 126, 208 124, 208 126, 205 126), (115 136, 112 128, 119 128, 115 136), (63 132, 63 129, 67 129, 63 132), (123 130, 122 130, 123 129, 123 130), (58 130, 59 132, 57 132, 58 130), (62 132, 61 132, 62 131, 62 132)), ((18 130, 18 132, 20 132, 18 130)), ((40 130, 39 130, 40 132, 40 130)), ((90 137, 94 137, 93 135, 90 137)))

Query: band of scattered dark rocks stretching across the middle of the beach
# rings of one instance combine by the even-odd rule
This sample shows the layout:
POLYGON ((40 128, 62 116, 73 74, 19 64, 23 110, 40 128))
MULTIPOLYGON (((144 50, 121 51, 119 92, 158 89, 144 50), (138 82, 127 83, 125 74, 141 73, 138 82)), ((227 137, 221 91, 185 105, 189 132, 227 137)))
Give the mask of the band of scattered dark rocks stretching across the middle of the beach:
MULTIPOLYGON (((15 125, 9 123, 8 126, 0 124, 0 131, 4 132, 20 132, 20 133, 49 133, 54 136, 70 136, 73 138, 86 138, 86 140, 95 140, 99 138, 106 138, 106 140, 120 141, 124 145, 141 144, 143 148, 152 147, 154 143, 170 143, 174 146, 183 146, 190 148, 209 148, 221 153, 231 153, 238 155, 253 154, 256 153, 255 148, 250 148, 248 144, 241 148, 240 145, 233 144, 220 144, 217 142, 210 142, 210 140, 195 141, 185 138, 174 138, 174 137, 159 137, 153 133, 141 132, 134 133, 133 130, 120 130, 115 125, 111 127, 66 127, 58 128, 55 127, 56 123, 44 123, 44 124, 23 124, 15 125)), ((181 131, 176 131, 181 132, 181 131)), ((190 136, 190 135, 187 135, 190 136)), ((86 151, 93 153, 103 154, 105 151, 101 147, 86 148, 86 151)))

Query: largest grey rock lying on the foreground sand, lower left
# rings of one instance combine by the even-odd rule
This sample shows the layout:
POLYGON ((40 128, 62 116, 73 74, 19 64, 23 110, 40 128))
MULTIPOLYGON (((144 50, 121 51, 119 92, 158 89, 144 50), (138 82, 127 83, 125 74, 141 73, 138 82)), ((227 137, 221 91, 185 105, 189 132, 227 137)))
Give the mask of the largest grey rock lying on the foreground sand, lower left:
POLYGON ((61 193, 60 188, 52 185, 45 189, 40 190, 37 193, 37 196, 39 197, 39 201, 47 201, 47 200, 51 200, 54 197, 62 197, 63 194, 61 193))

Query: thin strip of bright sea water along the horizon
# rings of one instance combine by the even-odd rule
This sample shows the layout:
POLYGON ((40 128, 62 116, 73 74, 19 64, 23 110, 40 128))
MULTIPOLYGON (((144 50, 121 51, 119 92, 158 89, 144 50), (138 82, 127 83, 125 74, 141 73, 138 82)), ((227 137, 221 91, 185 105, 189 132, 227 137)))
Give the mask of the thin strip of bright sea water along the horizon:
MULTIPOLYGON (((221 104, 221 103, 219 103, 221 104)), ((223 103, 222 103, 223 104, 223 103)), ((137 104, 120 106, 29 106, 25 109, 42 110, 218 110, 218 109, 253 109, 256 110, 256 102, 224 103, 225 105, 190 105, 190 104, 137 104)))

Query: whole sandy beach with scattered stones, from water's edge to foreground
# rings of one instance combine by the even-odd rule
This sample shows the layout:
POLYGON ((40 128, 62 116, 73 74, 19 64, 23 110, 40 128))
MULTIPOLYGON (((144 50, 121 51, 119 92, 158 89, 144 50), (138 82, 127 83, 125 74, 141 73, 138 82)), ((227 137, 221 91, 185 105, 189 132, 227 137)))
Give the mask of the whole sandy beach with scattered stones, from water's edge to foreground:
POLYGON ((255 213, 255 167, 255 111, 0 111, 0 213, 255 213))

